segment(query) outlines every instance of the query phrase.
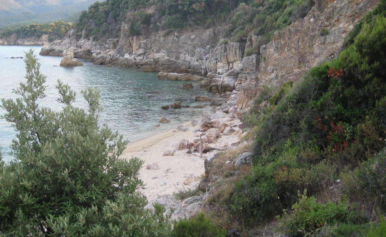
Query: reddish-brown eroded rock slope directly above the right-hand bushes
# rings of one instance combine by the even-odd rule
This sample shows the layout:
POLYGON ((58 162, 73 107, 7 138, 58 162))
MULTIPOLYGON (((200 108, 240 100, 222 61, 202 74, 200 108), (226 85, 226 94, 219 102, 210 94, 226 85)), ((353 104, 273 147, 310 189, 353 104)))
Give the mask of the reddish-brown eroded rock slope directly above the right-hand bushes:
POLYGON ((273 40, 260 47, 255 75, 238 76, 239 110, 251 106, 250 101, 263 85, 279 89, 286 81, 298 81, 311 67, 338 57, 347 34, 378 3, 377 0, 318 0, 305 18, 276 31, 273 40), (327 35, 320 34, 326 29, 327 35))

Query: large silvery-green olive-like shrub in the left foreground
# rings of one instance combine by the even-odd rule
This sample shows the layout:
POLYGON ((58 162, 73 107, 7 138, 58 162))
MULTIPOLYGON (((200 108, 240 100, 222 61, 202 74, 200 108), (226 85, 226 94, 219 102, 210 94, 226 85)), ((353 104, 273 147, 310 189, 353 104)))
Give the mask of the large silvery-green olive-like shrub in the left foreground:
POLYGON ((120 159, 127 141, 98 124, 99 91, 82 91, 88 109, 76 108, 76 93, 59 81, 63 110, 41 107, 46 76, 32 50, 25 64, 20 97, 2 99, 17 135, 16 161, 0 166, 0 235, 169 236, 164 208, 145 210, 137 191, 143 161, 120 159))

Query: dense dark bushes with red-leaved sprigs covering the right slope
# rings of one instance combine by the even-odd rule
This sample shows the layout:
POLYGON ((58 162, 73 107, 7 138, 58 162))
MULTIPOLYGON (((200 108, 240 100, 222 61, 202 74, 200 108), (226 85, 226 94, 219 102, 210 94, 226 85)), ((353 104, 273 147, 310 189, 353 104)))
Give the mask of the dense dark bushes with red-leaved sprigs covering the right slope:
POLYGON ((368 166, 357 172, 370 175, 369 196, 384 195, 383 163, 371 158, 386 138, 385 29, 383 15, 363 24, 338 59, 314 67, 292 88, 284 85, 264 113, 254 112, 257 118, 248 120, 257 124, 254 165, 234 186, 232 213, 249 220, 272 217, 291 207, 297 190, 316 195, 346 166, 368 159, 379 171, 368 166))

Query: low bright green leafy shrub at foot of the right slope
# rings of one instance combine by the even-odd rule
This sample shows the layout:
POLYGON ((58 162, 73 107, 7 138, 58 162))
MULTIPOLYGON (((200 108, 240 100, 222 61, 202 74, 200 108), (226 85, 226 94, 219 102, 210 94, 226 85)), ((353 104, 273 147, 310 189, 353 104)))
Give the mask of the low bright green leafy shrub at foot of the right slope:
POLYGON ((315 197, 307 197, 298 192, 299 201, 292 206, 293 215, 284 212, 282 218, 286 231, 290 236, 303 237, 322 231, 323 227, 330 227, 328 236, 352 236, 363 227, 365 219, 356 207, 350 207, 347 200, 338 200, 321 204, 315 197), (345 224, 343 226, 340 226, 345 224), (345 232, 344 232, 344 231, 345 232), (353 231, 353 232, 351 232, 353 231))

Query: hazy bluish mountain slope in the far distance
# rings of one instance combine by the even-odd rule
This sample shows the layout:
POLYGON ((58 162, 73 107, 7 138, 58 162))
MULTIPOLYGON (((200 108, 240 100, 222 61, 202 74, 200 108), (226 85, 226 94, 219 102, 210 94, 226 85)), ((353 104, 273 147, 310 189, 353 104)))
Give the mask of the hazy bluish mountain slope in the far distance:
POLYGON ((76 20, 96 0, 0 0, 0 29, 32 23, 76 20))

